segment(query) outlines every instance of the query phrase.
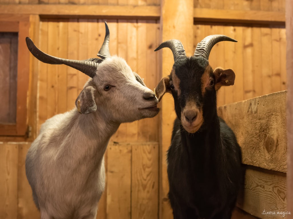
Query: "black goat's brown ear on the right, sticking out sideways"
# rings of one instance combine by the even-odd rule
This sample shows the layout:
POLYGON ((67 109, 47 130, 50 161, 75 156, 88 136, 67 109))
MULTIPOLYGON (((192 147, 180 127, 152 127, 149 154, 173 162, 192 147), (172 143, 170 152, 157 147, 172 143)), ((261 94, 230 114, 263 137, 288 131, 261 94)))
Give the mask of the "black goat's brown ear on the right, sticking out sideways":
POLYGON ((216 78, 216 91, 219 90, 222 86, 230 86, 234 84, 235 73, 231 68, 223 69, 221 67, 217 67, 214 69, 214 75, 216 78))

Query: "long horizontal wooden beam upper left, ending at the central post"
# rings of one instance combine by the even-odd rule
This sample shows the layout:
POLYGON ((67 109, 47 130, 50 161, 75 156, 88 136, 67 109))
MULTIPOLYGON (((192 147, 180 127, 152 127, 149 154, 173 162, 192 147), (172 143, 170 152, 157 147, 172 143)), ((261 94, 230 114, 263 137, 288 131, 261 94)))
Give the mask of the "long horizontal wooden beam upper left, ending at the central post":
POLYGON ((113 5, 0 5, 0 14, 38 14, 58 18, 129 18, 159 19, 160 6, 113 6, 113 5))

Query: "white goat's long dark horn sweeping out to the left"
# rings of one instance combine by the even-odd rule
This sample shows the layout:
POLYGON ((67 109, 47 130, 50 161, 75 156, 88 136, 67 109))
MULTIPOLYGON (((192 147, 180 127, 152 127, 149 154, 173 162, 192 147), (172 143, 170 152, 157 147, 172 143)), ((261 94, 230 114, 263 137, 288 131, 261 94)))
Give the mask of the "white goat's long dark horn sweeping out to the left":
POLYGON ((100 62, 96 59, 71 60, 71 59, 58 58, 58 57, 48 55, 40 51, 29 37, 26 37, 25 41, 29 51, 35 56, 35 58, 37 58, 41 62, 44 62, 47 64, 53 64, 53 65, 61 65, 61 64, 68 65, 72 68, 75 68, 83 72, 84 74, 88 75, 91 78, 93 78, 96 75, 96 69, 99 65, 98 62, 100 62))

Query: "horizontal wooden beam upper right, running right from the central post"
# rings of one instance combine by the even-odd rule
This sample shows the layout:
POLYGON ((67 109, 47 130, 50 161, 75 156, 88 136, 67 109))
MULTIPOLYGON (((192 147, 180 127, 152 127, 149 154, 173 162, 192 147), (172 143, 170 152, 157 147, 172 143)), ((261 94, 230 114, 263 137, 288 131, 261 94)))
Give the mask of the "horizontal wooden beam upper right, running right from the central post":
POLYGON ((285 24, 285 13, 279 11, 246 11, 194 8, 196 21, 285 24))

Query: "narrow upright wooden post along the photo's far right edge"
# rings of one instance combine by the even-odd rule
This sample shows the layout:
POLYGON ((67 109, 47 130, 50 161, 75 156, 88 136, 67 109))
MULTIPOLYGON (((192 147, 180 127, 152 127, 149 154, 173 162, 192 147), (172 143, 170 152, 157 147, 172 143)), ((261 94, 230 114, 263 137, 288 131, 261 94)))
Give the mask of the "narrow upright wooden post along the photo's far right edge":
POLYGON ((286 38, 287 38, 287 138, 288 138, 288 174, 287 174, 287 201, 293 218, 293 2, 286 0, 286 38))

